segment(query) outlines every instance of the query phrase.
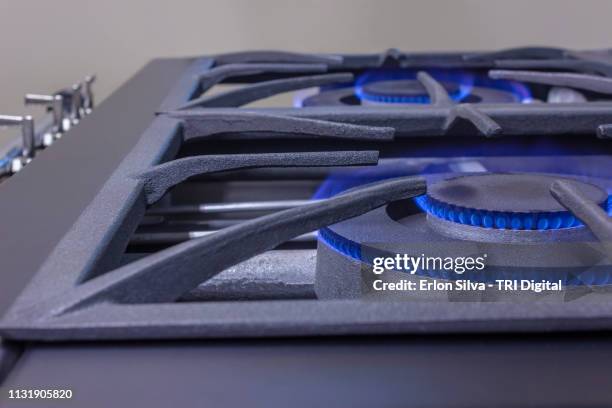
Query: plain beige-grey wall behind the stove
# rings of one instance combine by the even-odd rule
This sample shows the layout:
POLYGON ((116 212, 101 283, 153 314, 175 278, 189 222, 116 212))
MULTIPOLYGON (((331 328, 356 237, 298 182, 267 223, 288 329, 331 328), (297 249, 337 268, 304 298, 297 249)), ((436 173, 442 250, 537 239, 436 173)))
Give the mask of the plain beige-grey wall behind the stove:
POLYGON ((0 113, 91 72, 100 100, 160 56, 612 47, 611 17, 604 0, 0 0, 0 113))

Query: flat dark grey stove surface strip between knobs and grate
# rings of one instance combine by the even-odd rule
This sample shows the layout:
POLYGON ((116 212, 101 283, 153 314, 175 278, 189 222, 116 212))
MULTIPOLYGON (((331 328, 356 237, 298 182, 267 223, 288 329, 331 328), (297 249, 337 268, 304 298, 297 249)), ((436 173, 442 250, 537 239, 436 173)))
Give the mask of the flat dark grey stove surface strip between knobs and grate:
MULTIPOLYGON (((2 269, 7 271, 0 285, 0 314, 14 302, 56 243, 131 151, 176 78, 192 62, 189 58, 151 60, 106 98, 90 117, 66 134, 55 148, 42 152, 18 175, 2 183, 0 225, 3 230, 11 231, 11 239, 0 246, 2 269), (155 89, 149 86, 151 81, 157 84, 155 89), (134 99, 139 103, 135 104, 134 99), (121 116, 123 109, 136 111, 137 119, 131 115, 129 121, 113 121, 121 116), (114 138, 109 140, 110 137, 114 138), (117 144, 123 148, 117 148, 117 144), (82 154, 83 151, 87 154, 82 154), (75 161, 75 157, 80 161, 75 161), (79 171, 74 171, 75 168, 79 171), (54 180, 63 180, 63 183, 57 186, 54 180), (50 190, 49 186, 56 189, 50 190), (78 186, 79 194, 70 193, 71 188, 66 186, 78 186), (62 188, 66 191, 57 191, 62 188), (23 211, 15 214, 11 208, 23 211), (46 228, 40 228, 41 225, 46 228)), ((0 380, 17 362, 21 349, 18 343, 0 343, 0 380)))

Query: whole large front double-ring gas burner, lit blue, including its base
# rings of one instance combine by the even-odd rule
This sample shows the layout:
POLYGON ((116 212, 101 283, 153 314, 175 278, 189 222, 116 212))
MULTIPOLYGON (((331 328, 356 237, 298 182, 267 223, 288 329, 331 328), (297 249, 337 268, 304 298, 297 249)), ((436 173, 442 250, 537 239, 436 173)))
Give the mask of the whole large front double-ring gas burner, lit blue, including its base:
MULTIPOLYGON (((574 184, 590 199, 605 206, 606 191, 612 187, 606 179, 536 173, 480 173, 461 177, 436 174, 430 178, 427 196, 397 201, 323 228, 319 231, 317 249, 317 296, 378 296, 380 293, 372 290, 372 279, 388 282, 470 279, 483 283, 495 283, 499 279, 546 279, 562 281, 568 290, 582 290, 577 288, 585 286, 612 290, 612 263, 602 255, 599 242, 588 228, 564 218, 569 213, 550 195, 550 184, 559 178, 574 184), (422 200, 435 204, 424 208, 422 200), (439 217, 441 213, 427 212, 438 205, 448 206, 453 211, 466 209, 464 216, 469 214, 468 211, 481 211, 481 214, 491 215, 493 224, 491 227, 483 227, 482 221, 474 225, 462 224, 461 219, 465 220, 465 217, 459 217, 460 212, 448 215, 448 209, 443 213, 444 217, 439 217), (499 224, 504 228, 495 225, 494 214, 507 217, 506 224, 499 224), (525 218, 521 218, 523 216, 525 218), (530 224, 525 220, 533 216, 536 222, 531 224, 532 229, 526 229, 530 224), (519 217, 521 224, 518 225, 512 217, 519 217), (562 221, 556 221, 558 217, 562 221), (547 220, 547 229, 537 229, 539 220, 547 220), (466 275, 421 269, 414 275, 395 270, 383 275, 372 273, 377 257, 403 254, 434 258, 487 254, 487 261, 484 270, 466 275)), ((487 293, 483 294, 483 299, 497 300, 505 296, 496 291, 487 293)), ((433 300, 429 295, 417 296, 412 292, 401 296, 433 300)), ((531 299, 528 295, 524 298, 531 299)))

